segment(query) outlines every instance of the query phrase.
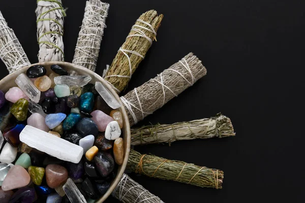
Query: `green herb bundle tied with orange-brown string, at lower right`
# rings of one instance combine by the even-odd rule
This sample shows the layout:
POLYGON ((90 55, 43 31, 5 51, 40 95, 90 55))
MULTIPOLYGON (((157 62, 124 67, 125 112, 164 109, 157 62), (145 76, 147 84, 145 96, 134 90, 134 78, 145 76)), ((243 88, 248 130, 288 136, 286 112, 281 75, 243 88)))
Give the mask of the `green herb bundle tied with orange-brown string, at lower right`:
POLYGON ((199 187, 222 188, 224 173, 217 169, 197 166, 183 161, 130 151, 127 169, 148 177, 171 180, 199 187))

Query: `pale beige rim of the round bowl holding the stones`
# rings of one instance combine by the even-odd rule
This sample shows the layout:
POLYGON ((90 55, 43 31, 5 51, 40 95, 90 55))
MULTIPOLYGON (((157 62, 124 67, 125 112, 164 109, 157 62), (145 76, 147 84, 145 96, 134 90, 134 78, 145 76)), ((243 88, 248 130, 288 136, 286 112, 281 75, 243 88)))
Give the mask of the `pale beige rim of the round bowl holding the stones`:
POLYGON ((111 87, 111 85, 106 82, 100 75, 98 75, 97 73, 90 71, 89 69, 86 69, 85 67, 82 67, 80 65, 74 64, 74 63, 70 63, 70 62, 65 62, 65 61, 49 61, 49 62, 39 62, 39 63, 34 63, 31 65, 27 65, 22 67, 21 69, 16 70, 15 72, 7 75, 6 77, 4 77, 2 80, 0 80, 0 84, 5 84, 7 81, 11 80, 11 77, 17 77, 18 75, 25 73, 26 70, 33 66, 33 65, 68 65, 68 66, 72 66, 76 71, 77 70, 81 70, 85 73, 87 73, 88 75, 94 75, 95 78, 97 80, 99 80, 104 86, 106 86, 106 88, 111 92, 111 94, 115 97, 115 99, 119 102, 119 104, 121 105, 121 113, 123 114, 123 120, 124 120, 124 124, 125 124, 125 136, 127 136, 126 138, 126 149, 125 149, 125 154, 124 154, 124 161, 123 164, 120 165, 120 169, 115 177, 115 179, 113 180, 112 184, 110 185, 110 187, 108 188, 107 192, 100 198, 98 199, 96 202, 97 203, 101 203, 103 201, 105 201, 110 194, 113 192, 113 190, 116 188, 116 186, 118 185, 118 183, 120 182, 121 177, 123 176, 126 166, 127 166, 127 162, 128 162, 128 158, 129 158, 129 153, 130 153, 130 148, 131 148, 131 131, 130 131, 130 123, 129 123, 129 119, 127 116, 127 112, 125 110, 125 107, 123 105, 123 103, 120 100, 120 97, 118 96, 118 94, 116 93, 116 91, 111 87))

